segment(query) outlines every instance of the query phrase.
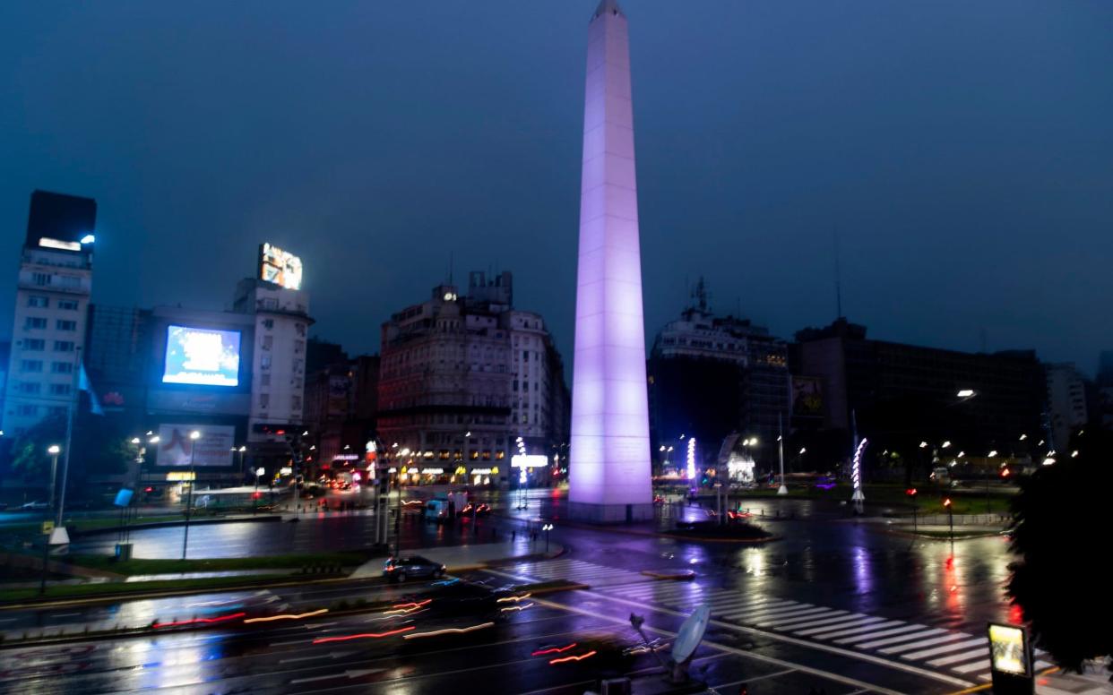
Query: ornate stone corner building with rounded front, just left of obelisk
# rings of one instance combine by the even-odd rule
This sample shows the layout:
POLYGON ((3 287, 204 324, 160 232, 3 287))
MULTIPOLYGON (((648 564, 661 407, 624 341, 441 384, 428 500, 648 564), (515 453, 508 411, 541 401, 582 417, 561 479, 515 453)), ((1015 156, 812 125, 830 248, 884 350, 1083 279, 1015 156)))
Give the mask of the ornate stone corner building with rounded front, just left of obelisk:
POLYGON ((516 485, 515 454, 560 450, 564 394, 544 320, 513 308, 510 272, 470 274, 464 296, 440 285, 383 324, 378 437, 416 481, 516 485))

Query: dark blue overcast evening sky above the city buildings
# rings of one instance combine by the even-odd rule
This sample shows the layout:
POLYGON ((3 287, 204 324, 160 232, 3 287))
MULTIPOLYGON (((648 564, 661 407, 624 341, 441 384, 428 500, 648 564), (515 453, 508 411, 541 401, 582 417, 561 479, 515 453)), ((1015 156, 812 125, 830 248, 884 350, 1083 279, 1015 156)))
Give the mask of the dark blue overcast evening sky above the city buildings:
MULTIPOLYGON (((587 22, 550 2, 0 4, 0 269, 100 205, 95 301, 221 308, 270 240, 316 332, 470 268, 571 360, 587 22)), ((627 0, 647 332, 706 275, 790 337, 1113 348, 1113 3, 627 0)), ((12 282, 0 282, 0 335, 12 282)))

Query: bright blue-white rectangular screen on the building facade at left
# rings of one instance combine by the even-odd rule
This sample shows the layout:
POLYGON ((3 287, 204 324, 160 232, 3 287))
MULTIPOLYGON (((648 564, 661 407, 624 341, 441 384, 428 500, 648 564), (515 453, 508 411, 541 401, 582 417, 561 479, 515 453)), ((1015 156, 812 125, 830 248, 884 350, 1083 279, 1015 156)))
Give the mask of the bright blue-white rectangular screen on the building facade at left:
POLYGON ((239 385, 239 331, 166 327, 164 384, 239 385))

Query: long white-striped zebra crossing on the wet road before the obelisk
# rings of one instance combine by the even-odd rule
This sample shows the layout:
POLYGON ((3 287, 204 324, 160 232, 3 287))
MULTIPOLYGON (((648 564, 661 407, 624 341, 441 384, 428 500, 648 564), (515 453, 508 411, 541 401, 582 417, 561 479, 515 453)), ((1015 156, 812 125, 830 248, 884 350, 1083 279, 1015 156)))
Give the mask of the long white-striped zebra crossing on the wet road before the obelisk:
MULTIPOLYGON (((715 620, 771 629, 935 671, 951 671, 966 678, 989 678, 988 641, 969 633, 738 589, 701 587, 695 583, 654 582, 603 588, 600 593, 686 613, 706 603, 715 620)), ((1052 665, 1038 658, 1043 652, 1035 654, 1036 668, 1052 665)))

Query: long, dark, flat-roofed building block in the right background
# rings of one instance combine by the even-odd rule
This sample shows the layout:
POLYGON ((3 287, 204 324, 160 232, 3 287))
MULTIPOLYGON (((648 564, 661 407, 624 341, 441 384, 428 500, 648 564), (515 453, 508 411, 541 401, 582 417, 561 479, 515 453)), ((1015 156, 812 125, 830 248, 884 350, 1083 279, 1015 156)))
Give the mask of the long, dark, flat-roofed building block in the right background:
POLYGON ((971 456, 1043 438, 1046 385, 1033 350, 961 353, 875 340, 840 318, 798 331, 791 351, 794 375, 821 384, 821 428, 848 433, 857 420, 859 434, 883 448, 946 439, 971 456))

